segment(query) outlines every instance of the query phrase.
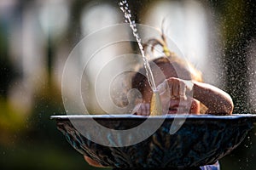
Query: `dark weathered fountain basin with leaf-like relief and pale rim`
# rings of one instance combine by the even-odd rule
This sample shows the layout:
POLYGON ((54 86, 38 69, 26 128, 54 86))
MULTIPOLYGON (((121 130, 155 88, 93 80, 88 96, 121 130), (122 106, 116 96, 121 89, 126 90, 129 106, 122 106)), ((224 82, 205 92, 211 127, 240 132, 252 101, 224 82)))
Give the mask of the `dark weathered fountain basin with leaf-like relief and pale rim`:
MULTIPOLYGON (((98 161, 106 167, 121 168, 154 168, 154 167, 200 167, 213 164, 236 149, 245 139, 247 132, 253 128, 256 115, 233 114, 232 116, 211 115, 168 115, 168 116, 124 116, 124 115, 66 115, 51 116, 55 119, 57 128, 63 133, 69 144, 84 156, 98 161), (149 120, 162 121, 160 127, 147 139, 131 145, 127 138, 113 138, 113 133, 96 132, 109 144, 97 144, 86 132, 91 131, 92 121, 114 130, 139 127, 149 120), (183 122, 177 132, 170 133, 173 121, 183 122), (79 127, 79 128, 78 128, 79 127), (83 133, 81 133, 83 131, 83 133), (85 135, 84 135, 85 132, 85 135), (86 136, 86 137, 84 137, 86 136), (114 141, 113 139, 118 139, 114 141), (119 144, 124 144, 120 146, 119 144)), ((145 129, 137 133, 147 133, 145 129)))

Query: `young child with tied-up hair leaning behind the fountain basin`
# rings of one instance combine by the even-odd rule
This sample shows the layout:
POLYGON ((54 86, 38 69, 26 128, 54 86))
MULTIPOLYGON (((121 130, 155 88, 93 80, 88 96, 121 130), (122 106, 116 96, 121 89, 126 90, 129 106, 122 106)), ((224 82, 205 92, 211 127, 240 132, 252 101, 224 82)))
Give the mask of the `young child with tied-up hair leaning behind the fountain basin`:
MULTIPOLYGON (((189 112, 191 114, 231 115, 234 106, 230 95, 202 82, 201 72, 195 70, 193 65, 178 58, 176 54, 171 53, 166 48, 166 38, 164 36, 162 38, 163 41, 149 40, 144 48, 147 49, 148 44, 151 43, 153 44, 151 49, 154 50, 154 46, 160 44, 166 55, 149 61, 149 65, 156 65, 164 75, 154 75, 155 84, 160 91, 162 108, 167 108, 164 109, 163 114, 189 112)), ((145 73, 145 69, 141 68, 138 72, 145 73)), ((143 95, 143 103, 136 114, 148 116, 153 91, 147 78, 141 73, 137 73, 132 80, 132 88, 137 88, 143 95)))

